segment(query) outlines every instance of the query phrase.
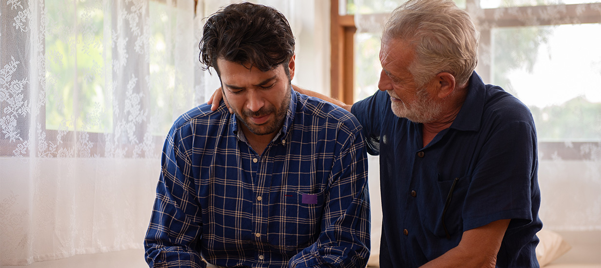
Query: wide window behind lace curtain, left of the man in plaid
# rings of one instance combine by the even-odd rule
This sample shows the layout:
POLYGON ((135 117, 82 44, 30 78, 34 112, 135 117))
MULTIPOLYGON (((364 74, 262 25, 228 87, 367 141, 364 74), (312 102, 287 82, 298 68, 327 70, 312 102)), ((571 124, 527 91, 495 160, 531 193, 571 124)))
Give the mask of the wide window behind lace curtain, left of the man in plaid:
POLYGON ((0 35, 0 156, 159 155, 175 118, 200 103, 194 4, 0 5, 11 25, 0 35))

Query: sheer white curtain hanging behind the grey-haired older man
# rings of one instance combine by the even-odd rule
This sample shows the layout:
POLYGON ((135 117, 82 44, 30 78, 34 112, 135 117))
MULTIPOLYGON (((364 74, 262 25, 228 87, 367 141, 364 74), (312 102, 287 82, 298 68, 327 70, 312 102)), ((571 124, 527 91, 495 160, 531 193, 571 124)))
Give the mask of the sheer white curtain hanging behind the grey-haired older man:
MULTIPOLYGON (((355 100, 377 90, 380 34, 403 0, 347 2, 355 14, 355 100)), ((456 0, 480 37, 476 71, 525 103, 538 133, 540 218, 549 230, 601 230, 601 2, 456 0)), ((381 212, 370 162, 372 248, 381 212)))

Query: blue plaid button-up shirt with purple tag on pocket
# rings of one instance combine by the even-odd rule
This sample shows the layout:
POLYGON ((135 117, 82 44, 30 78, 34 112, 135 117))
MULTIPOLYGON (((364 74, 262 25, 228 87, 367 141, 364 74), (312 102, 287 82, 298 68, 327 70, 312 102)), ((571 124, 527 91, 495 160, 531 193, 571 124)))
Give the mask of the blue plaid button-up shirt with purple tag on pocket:
POLYGON ((365 267, 367 154, 353 115, 293 91, 258 155, 224 103, 175 121, 145 257, 151 267, 365 267))

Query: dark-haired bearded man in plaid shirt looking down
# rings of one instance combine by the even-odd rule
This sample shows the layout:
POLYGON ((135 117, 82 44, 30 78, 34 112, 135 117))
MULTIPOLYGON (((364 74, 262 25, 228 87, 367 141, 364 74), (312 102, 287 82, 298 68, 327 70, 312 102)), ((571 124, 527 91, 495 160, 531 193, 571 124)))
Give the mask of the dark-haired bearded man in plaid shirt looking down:
POLYGON ((367 154, 349 112, 293 91, 294 37, 273 8, 232 4, 201 61, 225 99, 175 121, 145 239, 151 267, 364 267, 367 154), (203 260, 207 261, 205 263, 203 260))

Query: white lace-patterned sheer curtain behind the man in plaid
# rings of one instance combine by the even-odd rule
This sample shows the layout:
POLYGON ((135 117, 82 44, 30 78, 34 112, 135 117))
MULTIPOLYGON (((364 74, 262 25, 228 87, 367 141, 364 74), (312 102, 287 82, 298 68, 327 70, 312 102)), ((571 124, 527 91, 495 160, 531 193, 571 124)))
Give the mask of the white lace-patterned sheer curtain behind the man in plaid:
MULTIPOLYGON (((302 55, 328 47, 324 1, 255 2, 288 17, 313 65, 295 81, 323 92, 329 56, 302 55)), ((228 3, 0 3, 0 265, 142 248, 165 135, 219 85, 198 41, 228 3)))

